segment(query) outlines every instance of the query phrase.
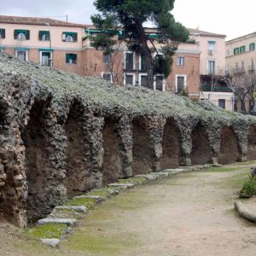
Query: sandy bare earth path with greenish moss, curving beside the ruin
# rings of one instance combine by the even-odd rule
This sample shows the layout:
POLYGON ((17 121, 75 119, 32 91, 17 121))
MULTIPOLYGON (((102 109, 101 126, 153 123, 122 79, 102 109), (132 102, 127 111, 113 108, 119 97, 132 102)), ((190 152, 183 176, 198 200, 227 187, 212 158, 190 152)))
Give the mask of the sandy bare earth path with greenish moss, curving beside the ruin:
POLYGON ((255 256, 256 226, 233 207, 255 163, 180 174, 113 197, 56 249, 2 225, 0 255, 255 256))

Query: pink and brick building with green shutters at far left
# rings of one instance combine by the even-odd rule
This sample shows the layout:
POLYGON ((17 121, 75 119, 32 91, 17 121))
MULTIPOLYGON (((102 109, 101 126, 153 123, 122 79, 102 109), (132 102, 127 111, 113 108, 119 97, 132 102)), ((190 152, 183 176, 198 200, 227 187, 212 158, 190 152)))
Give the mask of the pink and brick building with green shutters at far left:
POLYGON ((0 51, 21 61, 83 74, 85 27, 49 18, 0 15, 0 51))

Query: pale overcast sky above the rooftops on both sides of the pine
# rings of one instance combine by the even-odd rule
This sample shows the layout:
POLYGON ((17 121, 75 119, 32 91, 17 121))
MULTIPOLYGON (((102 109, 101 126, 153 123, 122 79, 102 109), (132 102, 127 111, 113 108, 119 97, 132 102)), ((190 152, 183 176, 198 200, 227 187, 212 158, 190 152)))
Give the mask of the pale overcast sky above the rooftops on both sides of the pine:
MULTIPOLYGON (((138 0, 139 1, 139 0, 138 0)), ((94 0, 0 0, 0 15, 52 17, 90 24, 94 0)), ((156 0, 157 2, 157 0, 156 0)), ((227 39, 256 31, 253 0, 176 0, 172 14, 184 26, 227 35, 227 39)))

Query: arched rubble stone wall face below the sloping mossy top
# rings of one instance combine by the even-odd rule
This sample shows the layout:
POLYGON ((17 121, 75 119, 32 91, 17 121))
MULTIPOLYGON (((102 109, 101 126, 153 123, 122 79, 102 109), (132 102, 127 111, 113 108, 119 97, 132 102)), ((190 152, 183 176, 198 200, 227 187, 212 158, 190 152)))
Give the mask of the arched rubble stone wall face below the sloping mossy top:
POLYGON ((255 119, 123 113, 10 75, 0 93, 0 204, 20 227, 118 178, 256 159, 255 119))

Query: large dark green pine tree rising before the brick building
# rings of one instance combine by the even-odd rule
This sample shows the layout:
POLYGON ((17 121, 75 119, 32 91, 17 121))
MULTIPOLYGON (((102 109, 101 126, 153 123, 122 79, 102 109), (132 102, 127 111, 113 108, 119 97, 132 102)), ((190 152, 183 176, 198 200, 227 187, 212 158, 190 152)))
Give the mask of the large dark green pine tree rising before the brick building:
POLYGON ((115 44, 114 36, 121 30, 119 39, 124 40, 131 50, 145 55, 149 84, 153 83, 154 73, 167 76, 171 72, 177 42, 184 42, 189 37, 187 29, 171 14, 174 0, 96 0, 94 4, 101 14, 91 16, 91 20, 102 33, 93 38, 92 46, 110 54, 115 44), (154 39, 143 27, 147 21, 156 28, 157 37, 154 39), (165 44, 165 55, 154 60, 150 44, 157 51, 155 40, 165 44))

